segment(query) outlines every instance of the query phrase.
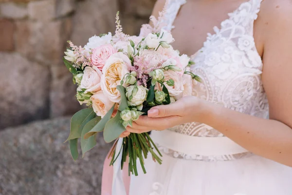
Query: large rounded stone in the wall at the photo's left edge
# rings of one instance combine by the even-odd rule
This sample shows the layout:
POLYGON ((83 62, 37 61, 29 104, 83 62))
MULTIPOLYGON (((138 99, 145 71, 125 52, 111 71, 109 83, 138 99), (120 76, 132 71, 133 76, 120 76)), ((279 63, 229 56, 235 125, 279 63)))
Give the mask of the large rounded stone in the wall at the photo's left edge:
POLYGON ((49 116, 49 68, 0 52, 0 129, 49 116))

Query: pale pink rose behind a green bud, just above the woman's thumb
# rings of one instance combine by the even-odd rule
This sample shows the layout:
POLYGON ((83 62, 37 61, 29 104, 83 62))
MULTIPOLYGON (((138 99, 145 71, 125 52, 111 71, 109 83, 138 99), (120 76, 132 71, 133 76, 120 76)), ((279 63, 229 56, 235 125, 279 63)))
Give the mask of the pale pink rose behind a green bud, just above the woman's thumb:
MULTIPOLYGON (((177 72, 174 72, 172 70, 164 71, 164 80, 167 81, 170 79, 174 81, 174 85, 169 86, 166 84, 166 82, 164 82, 164 85, 167 88, 169 95, 176 98, 176 96, 179 96, 183 93, 183 78, 179 76, 177 72)), ((162 87, 160 83, 156 83, 156 88, 159 91, 162 91, 162 87)))

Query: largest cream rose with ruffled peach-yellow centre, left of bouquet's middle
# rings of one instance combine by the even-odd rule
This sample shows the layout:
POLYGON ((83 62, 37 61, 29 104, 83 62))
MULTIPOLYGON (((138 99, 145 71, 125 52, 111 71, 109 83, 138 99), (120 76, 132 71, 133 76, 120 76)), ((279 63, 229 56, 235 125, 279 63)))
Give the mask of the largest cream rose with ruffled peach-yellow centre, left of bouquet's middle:
POLYGON ((107 60, 102 69, 101 89, 112 102, 121 100, 121 94, 116 87, 120 85, 121 80, 129 73, 129 66, 131 66, 131 61, 128 57, 122 52, 118 52, 107 60))

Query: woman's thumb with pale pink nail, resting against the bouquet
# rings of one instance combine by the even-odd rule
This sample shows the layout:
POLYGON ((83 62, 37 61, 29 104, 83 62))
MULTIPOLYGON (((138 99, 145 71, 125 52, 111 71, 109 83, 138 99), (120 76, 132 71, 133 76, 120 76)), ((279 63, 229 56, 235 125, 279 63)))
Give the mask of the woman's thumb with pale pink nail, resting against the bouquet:
POLYGON ((175 103, 154 106, 148 110, 148 117, 169 117, 179 115, 179 109, 175 103))

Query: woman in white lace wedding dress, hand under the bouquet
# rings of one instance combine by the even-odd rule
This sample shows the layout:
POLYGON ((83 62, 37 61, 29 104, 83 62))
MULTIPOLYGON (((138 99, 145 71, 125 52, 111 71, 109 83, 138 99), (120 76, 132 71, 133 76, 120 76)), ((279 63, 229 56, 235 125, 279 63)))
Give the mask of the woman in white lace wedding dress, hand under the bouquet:
POLYGON ((292 195, 292 1, 158 0, 153 15, 164 4, 164 29, 202 82, 121 135, 158 130, 163 164, 146 159, 147 174, 114 176, 108 193, 292 195))

